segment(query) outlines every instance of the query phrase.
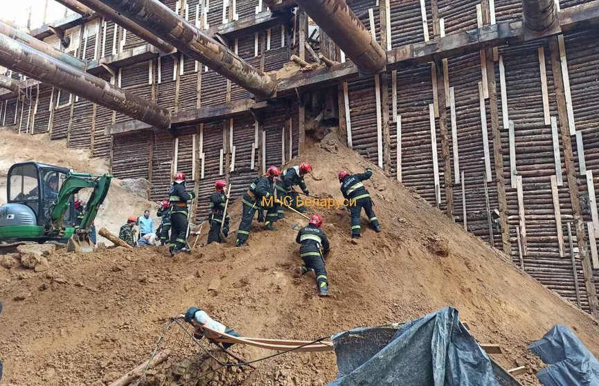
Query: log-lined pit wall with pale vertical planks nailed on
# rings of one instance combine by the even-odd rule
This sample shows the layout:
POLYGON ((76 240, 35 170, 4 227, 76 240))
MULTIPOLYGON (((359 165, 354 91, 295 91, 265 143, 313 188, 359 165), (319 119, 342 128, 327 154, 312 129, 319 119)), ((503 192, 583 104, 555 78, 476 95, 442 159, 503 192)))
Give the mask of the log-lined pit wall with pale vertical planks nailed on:
MULTIPOLYGON (((521 20, 520 1, 432 1, 350 0, 348 5, 386 50, 521 20)), ((559 6, 563 10, 581 3, 562 0, 559 6)), ((267 12, 260 0, 166 4, 202 29, 267 12)), ((296 12, 283 25, 230 39, 229 46, 265 71, 278 70, 292 53, 310 60, 297 48, 307 39, 299 34, 308 29, 301 28, 302 20, 303 13, 296 12)), ((507 252, 539 282, 592 312, 599 281, 599 181, 593 178, 599 175, 599 151, 594 150, 599 149, 594 139, 599 116, 593 113, 599 109, 597 33, 591 26, 488 48, 444 59, 439 69, 420 64, 343 82, 338 91, 340 131, 350 147, 507 252), (487 208, 497 209, 499 219, 490 219, 487 208), (575 213, 582 215, 578 232, 575 213)), ((145 45, 101 18, 66 31, 77 34, 80 39, 71 39, 69 53, 80 58, 145 45)), ((46 42, 58 44, 55 37, 46 42)), ((314 48, 337 62, 346 60, 324 33, 314 48)), ((173 112, 247 98, 240 86, 178 54, 154 55, 113 72, 96 75, 173 112)), ((172 172, 182 170, 193 178, 201 197, 197 221, 206 217, 215 180, 228 177, 233 196, 240 196, 265 165, 281 165, 296 156, 303 135, 299 127, 305 108, 297 98, 258 116, 247 111, 174 132, 109 136, 106 127, 130 118, 44 85, 30 87, 26 95, 30 98, 1 104, 3 125, 17 125, 30 134, 50 132, 53 139, 66 138, 69 146, 89 147, 94 156, 111 158, 116 176, 152 182, 152 200, 164 199, 172 172)))

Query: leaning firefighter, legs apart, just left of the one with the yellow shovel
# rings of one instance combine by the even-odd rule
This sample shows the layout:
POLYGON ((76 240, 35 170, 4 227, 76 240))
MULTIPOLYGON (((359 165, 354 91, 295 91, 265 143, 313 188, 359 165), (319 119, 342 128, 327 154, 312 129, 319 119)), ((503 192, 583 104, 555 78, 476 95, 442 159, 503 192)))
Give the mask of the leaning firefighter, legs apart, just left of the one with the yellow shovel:
POLYGON ((266 230, 275 230, 272 226, 273 220, 276 219, 276 203, 274 201, 274 180, 280 176, 280 169, 276 166, 271 166, 267 169, 266 174, 256 178, 256 181, 249 186, 249 190, 244 194, 242 202, 242 218, 237 231, 236 246, 242 246, 249 237, 251 221, 253 220, 258 205, 267 210, 267 218, 265 221, 266 230))

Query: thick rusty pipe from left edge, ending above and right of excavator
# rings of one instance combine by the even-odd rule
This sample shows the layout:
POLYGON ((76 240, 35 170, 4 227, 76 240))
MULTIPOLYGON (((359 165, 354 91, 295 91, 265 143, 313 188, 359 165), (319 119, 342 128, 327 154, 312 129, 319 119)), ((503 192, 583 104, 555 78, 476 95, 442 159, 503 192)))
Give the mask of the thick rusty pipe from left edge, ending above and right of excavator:
POLYGON ((161 129, 170 125, 170 111, 158 104, 64 64, 6 35, 0 35, 0 66, 69 91, 147 125, 161 129))

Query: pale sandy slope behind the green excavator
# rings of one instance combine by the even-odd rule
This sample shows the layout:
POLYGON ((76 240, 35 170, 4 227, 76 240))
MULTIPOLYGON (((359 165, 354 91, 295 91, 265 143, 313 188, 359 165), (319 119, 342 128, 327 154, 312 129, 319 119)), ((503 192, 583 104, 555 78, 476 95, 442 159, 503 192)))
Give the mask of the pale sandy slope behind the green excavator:
MULTIPOLYGON (((0 204, 6 203, 6 174, 13 163, 37 161, 62 167, 69 167, 75 172, 104 174, 109 170, 107 160, 91 158, 87 149, 66 147, 66 140, 49 140, 46 135, 28 136, 16 134, 8 129, 0 129, 0 204)), ((118 234, 120 226, 128 216, 140 216, 146 208, 152 209, 154 216, 156 204, 134 196, 124 189, 123 181, 114 178, 108 196, 96 217, 96 228, 102 226, 118 234)), ((81 198, 87 199, 89 190, 81 191, 81 198)), ((159 221, 156 221, 158 226, 159 221)), ((111 243, 103 237, 98 241, 111 243), (101 240, 100 240, 101 239, 101 240)))

